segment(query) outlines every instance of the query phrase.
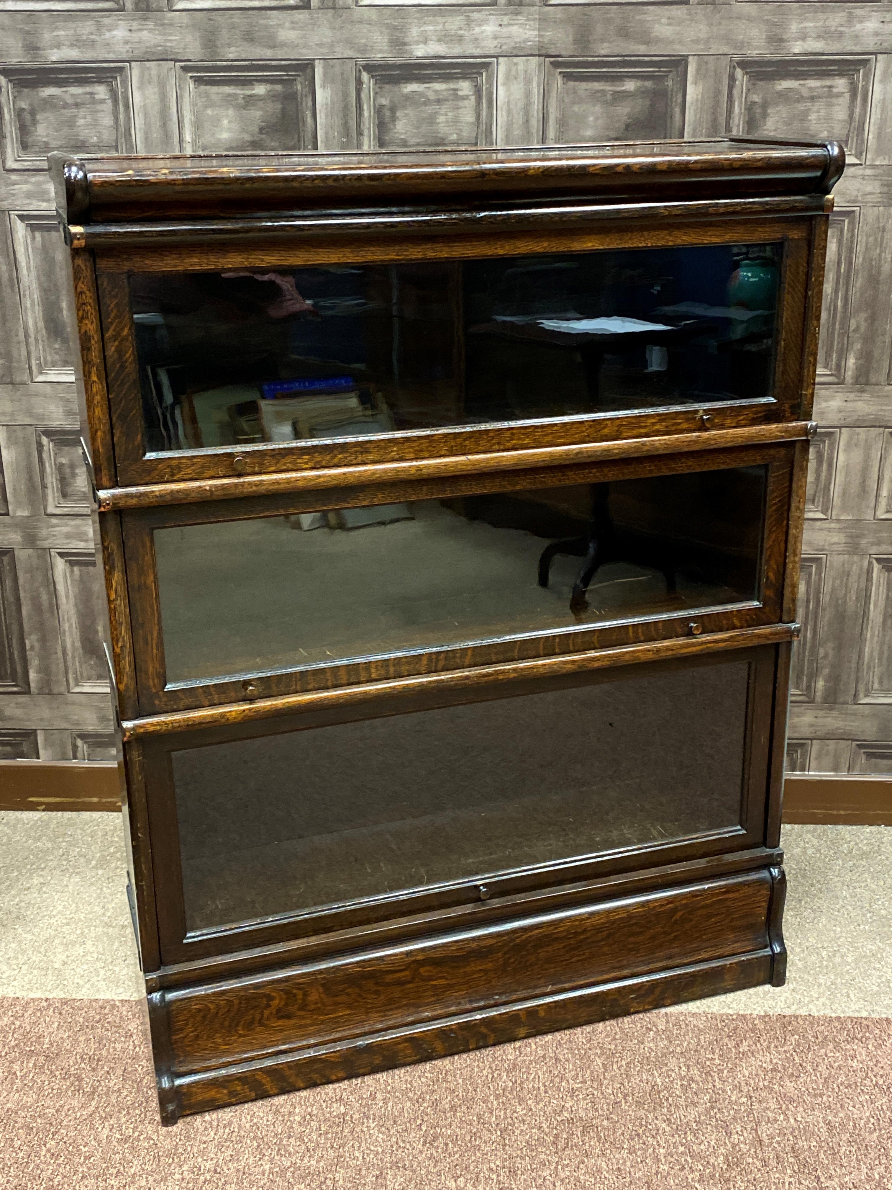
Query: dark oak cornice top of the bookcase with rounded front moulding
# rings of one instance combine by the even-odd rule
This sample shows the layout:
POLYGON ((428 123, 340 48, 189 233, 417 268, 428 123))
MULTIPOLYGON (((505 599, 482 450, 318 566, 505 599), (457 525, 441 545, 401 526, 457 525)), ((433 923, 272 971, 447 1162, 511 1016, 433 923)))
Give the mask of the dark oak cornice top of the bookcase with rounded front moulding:
POLYGON ((728 138, 253 156, 50 155, 69 225, 555 199, 641 201, 827 194, 835 142, 728 138))

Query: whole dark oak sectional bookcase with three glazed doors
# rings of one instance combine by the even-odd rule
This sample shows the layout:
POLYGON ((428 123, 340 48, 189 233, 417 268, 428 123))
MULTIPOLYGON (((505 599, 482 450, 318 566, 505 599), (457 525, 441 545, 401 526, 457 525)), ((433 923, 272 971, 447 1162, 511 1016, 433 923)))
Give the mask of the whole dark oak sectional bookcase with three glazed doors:
POLYGON ((165 1123, 784 982, 842 165, 52 155, 165 1123))

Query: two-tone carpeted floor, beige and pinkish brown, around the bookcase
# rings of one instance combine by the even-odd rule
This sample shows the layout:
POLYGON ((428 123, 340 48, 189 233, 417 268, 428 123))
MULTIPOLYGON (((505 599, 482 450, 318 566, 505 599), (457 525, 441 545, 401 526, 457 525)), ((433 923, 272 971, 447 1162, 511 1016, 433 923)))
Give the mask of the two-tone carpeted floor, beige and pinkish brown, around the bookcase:
POLYGON ((892 1186, 892 829, 786 828, 784 989, 171 1129, 158 1123, 119 831, 111 814, 0 815, 4 1190, 892 1186))

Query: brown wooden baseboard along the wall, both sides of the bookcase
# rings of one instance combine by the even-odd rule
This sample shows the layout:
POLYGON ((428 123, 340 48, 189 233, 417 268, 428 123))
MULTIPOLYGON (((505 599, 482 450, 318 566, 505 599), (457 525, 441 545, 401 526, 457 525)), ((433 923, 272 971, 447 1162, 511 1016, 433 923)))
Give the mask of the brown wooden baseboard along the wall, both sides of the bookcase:
MULTIPOLYGON (((0 810, 119 810, 118 765, 83 760, 0 760, 0 810)), ((892 826, 892 777, 791 774, 784 821, 892 826)))

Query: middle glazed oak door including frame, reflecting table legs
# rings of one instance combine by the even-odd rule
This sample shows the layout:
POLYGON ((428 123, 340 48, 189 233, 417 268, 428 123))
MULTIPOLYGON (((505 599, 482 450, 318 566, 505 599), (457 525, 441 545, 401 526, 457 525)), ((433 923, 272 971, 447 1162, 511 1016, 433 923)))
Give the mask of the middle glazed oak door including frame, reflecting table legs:
POLYGON ((123 515, 140 714, 780 620, 792 446, 123 515))

